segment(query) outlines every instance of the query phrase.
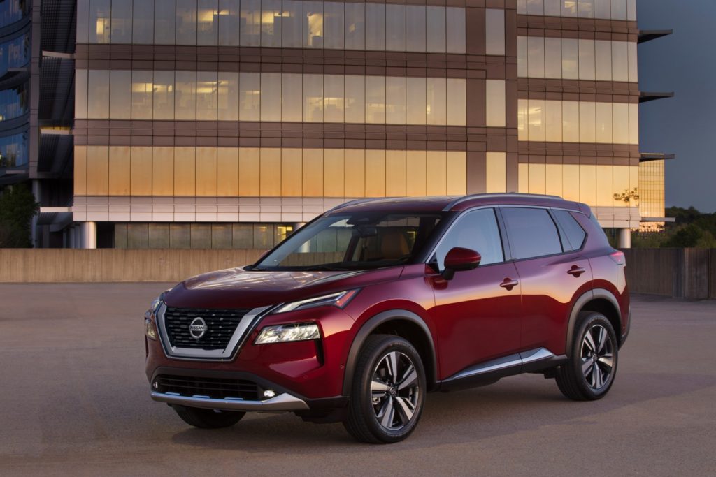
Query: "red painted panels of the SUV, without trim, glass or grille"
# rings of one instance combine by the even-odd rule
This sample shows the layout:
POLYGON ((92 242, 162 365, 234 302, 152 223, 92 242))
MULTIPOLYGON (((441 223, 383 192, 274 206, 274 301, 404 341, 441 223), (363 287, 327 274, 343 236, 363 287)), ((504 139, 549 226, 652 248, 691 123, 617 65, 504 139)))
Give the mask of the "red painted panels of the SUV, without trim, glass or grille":
MULTIPOLYGON (((340 212, 439 212, 454 200, 386 199, 349 205, 340 212)), ((349 350, 362 326, 384 311, 407 310, 420 317, 430 330, 437 378, 441 380, 470 365, 521 350, 543 347, 554 355, 565 353, 574 304, 585 292, 596 288, 616 298, 622 317, 621 333, 627 330, 629 295, 624 265, 618 260, 620 252, 609 247, 594 222, 579 213, 591 214, 589 207, 549 197, 488 195, 448 207, 445 220, 454 220, 459 212, 485 205, 574 210, 588 239, 578 252, 480 265, 455 272, 452 280, 445 280, 423 262, 362 272, 256 272, 234 268, 199 275, 170 290, 165 303, 179 308, 258 308, 343 290, 359 291, 339 307, 267 315, 236 358, 224 363, 167 358, 158 341, 147 340, 147 377, 151 378, 159 366, 240 370, 305 398, 341 395, 349 350), (576 272, 578 269, 583 271, 576 272), (267 325, 305 322, 319 325, 320 340, 253 344, 267 325)), ((479 260, 480 254, 468 249, 448 254, 448 261, 456 268, 479 260)))

